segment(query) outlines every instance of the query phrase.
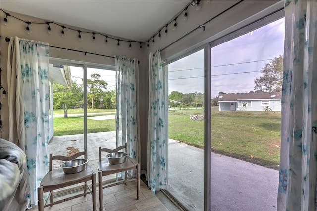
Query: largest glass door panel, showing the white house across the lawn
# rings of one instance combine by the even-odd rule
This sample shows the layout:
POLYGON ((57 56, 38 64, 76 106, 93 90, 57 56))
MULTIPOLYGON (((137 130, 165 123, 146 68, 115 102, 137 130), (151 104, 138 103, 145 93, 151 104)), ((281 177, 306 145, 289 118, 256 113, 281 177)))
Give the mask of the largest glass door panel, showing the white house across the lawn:
POLYGON ((276 210, 283 50, 284 18, 211 48, 211 210, 276 210))

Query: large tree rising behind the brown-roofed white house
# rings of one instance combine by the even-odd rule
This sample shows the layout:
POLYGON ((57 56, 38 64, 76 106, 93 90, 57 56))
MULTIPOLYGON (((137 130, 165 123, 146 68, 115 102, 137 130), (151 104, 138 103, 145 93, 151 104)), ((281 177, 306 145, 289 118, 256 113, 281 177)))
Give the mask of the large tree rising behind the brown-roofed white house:
POLYGON ((254 90, 260 92, 280 92, 283 83, 283 56, 275 57, 261 69, 263 76, 254 80, 254 90))

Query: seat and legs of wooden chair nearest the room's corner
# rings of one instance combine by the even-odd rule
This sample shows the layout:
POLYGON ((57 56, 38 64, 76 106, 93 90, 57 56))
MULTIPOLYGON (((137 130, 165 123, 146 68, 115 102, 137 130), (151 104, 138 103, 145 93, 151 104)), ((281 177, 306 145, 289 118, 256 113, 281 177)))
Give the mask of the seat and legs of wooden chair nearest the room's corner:
POLYGON ((115 186, 118 184, 126 183, 127 181, 136 180, 137 181, 137 199, 139 199, 140 192, 140 164, 133 158, 126 158, 125 162, 122 164, 109 164, 108 159, 102 160, 98 163, 98 182, 99 182, 99 210, 103 210, 103 188, 115 186), (124 180, 121 182, 116 182, 114 184, 103 186, 103 176, 120 173, 127 170, 137 170, 137 177, 124 180))

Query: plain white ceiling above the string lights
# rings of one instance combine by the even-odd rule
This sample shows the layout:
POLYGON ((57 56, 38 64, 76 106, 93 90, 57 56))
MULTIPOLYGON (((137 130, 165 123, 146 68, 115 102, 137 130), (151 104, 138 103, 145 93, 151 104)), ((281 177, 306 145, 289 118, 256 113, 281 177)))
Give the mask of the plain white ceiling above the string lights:
MULTIPOLYGON (((146 41, 191 0, 1 0, 6 11, 146 41)), ((27 21, 27 20, 26 20, 27 21)))

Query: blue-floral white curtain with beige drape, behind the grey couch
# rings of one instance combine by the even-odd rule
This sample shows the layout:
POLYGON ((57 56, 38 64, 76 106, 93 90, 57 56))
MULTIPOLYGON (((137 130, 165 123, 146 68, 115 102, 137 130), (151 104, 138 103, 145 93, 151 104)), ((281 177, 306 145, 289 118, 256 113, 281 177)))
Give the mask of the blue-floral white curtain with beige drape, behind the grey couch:
POLYGON ((11 38, 7 67, 9 141, 19 145, 27 157, 25 198, 30 208, 37 205, 37 188, 48 172, 48 44, 11 38))

